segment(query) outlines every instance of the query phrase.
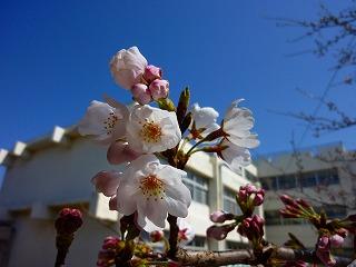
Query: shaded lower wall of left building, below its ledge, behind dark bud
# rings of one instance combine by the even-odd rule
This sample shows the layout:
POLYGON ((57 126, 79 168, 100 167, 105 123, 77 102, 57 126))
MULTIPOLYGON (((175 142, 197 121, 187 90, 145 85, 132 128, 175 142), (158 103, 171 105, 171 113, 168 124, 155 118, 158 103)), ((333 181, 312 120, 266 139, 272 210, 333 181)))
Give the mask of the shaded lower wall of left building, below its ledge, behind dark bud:
MULTIPOLYGON (((14 227, 9 267, 55 265, 57 250, 53 221, 18 216, 14 227)), ((110 229, 96 219, 85 217, 85 224, 76 233, 70 247, 67 266, 96 266, 102 240, 109 235, 112 235, 110 229)))

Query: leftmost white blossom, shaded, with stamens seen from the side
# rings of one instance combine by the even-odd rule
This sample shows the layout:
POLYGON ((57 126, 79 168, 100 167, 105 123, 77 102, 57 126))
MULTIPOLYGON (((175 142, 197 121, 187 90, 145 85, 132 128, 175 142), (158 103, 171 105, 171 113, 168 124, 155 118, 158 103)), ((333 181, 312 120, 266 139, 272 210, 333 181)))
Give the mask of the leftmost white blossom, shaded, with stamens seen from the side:
POLYGON ((113 108, 93 100, 79 122, 78 131, 82 136, 92 136, 102 144, 110 144, 125 136, 128 116, 129 111, 123 105, 117 103, 113 108))

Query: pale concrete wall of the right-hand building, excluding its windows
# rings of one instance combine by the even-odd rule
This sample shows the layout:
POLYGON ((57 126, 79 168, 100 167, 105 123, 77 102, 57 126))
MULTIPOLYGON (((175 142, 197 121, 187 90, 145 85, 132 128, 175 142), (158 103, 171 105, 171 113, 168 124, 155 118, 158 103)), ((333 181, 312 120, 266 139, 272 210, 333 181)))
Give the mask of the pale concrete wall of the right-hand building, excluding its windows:
MULTIPOLYGON (((338 147, 342 149, 342 147, 338 147)), ((299 197, 308 200, 314 206, 327 206, 333 204, 342 204, 346 207, 355 206, 355 177, 350 176, 348 171, 345 171, 345 165, 343 162, 326 162, 320 160, 320 157, 332 158, 335 157, 335 147, 322 147, 316 150, 310 149, 310 151, 303 151, 300 156, 298 156, 298 160, 296 157, 291 155, 291 152, 274 155, 271 157, 260 158, 256 164, 258 168, 258 177, 263 180, 266 177, 274 177, 280 175, 290 175, 297 172, 313 172, 323 169, 332 169, 336 168, 339 177, 339 185, 329 185, 327 187, 308 187, 288 189, 288 190, 268 190, 266 192, 266 198, 264 202, 265 211, 269 210, 278 210, 284 207, 281 201, 279 200, 279 196, 283 194, 287 194, 293 197, 299 197), (300 168, 301 167, 301 168, 300 168), (345 194, 346 200, 338 195, 339 192, 345 194), (335 195, 336 199, 330 198, 330 196, 335 195), (348 197, 347 197, 348 196, 348 197), (352 200, 348 202, 348 200, 352 200)), ((356 170, 356 165, 353 162, 350 169, 356 170)), ((356 174, 356 172, 355 172, 356 174)), ((348 212, 350 212, 350 208, 347 208, 348 212)), ((317 235, 315 229, 309 224, 300 224, 300 225, 289 225, 288 219, 284 219, 287 221, 286 225, 269 225, 266 227, 267 239, 269 241, 276 243, 278 245, 284 244, 287 239, 288 233, 293 233, 299 238, 307 247, 314 247, 317 235)))

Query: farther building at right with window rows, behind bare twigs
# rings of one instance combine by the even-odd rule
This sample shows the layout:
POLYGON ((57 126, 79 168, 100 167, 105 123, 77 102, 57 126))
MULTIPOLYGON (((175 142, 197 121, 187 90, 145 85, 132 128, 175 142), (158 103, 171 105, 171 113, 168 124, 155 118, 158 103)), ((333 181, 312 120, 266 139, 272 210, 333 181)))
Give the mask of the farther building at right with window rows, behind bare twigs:
MULTIPOLYGON (((264 211, 267 239, 283 245, 293 233, 305 246, 313 248, 317 233, 303 219, 286 219, 279 215, 279 196, 287 194, 307 199, 328 218, 343 218, 355 207, 356 166, 354 152, 342 144, 329 144, 259 157, 255 162, 258 178, 266 189, 264 211)), ((348 240, 345 246, 350 246, 348 240)))

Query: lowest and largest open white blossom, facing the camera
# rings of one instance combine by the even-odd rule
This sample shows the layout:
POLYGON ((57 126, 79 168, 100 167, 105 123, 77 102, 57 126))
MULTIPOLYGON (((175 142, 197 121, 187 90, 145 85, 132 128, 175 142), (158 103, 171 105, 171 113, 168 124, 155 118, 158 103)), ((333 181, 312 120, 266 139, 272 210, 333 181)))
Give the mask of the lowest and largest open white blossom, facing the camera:
POLYGON ((191 202, 189 189, 181 179, 187 174, 169 165, 161 165, 156 156, 144 155, 122 172, 117 189, 118 211, 137 211, 138 225, 151 231, 165 227, 167 215, 187 217, 191 202))

